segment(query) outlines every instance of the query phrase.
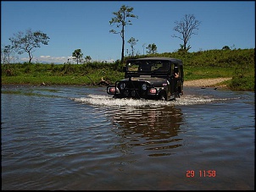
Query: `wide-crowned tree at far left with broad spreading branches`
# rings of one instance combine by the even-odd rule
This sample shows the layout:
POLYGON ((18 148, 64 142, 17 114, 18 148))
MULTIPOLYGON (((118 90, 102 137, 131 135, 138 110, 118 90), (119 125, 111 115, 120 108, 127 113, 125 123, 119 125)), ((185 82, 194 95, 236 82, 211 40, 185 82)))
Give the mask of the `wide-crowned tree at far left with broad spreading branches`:
POLYGON ((24 32, 19 31, 14 34, 13 37, 9 38, 9 41, 12 42, 12 46, 17 50, 18 54, 23 54, 27 52, 31 60, 33 58, 32 52, 35 52, 35 48, 41 47, 41 44, 48 45, 48 39, 50 39, 47 34, 42 33, 40 30, 33 32, 31 29, 28 29, 24 32))

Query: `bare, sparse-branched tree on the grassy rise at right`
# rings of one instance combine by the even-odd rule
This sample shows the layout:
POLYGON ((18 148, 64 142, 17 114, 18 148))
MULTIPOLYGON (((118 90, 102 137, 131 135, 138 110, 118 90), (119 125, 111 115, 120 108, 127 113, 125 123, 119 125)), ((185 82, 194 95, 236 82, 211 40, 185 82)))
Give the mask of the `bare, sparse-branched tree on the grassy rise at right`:
POLYGON ((191 39, 192 35, 197 35, 195 30, 198 30, 198 26, 201 24, 199 20, 193 14, 185 14, 185 17, 181 21, 175 21, 174 30, 180 33, 180 36, 175 36, 183 41, 180 45, 182 50, 188 51, 191 47, 187 47, 187 42, 191 39))

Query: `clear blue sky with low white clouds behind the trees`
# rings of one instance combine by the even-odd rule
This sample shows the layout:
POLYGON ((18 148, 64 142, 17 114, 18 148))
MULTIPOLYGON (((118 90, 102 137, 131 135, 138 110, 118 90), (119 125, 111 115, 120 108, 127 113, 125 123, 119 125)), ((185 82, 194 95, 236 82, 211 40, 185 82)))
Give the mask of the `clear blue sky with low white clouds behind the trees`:
MULTIPOLYGON (((115 61, 121 58, 122 39, 111 26, 122 5, 134 8, 132 25, 125 26, 125 55, 131 52, 131 37, 137 40, 135 52, 147 53, 148 44, 157 52, 176 52, 183 42, 174 30, 175 21, 193 14, 201 23, 192 35, 189 52, 255 48, 255 1, 1 1, 1 48, 19 31, 40 30, 49 36, 48 45, 33 52, 34 63, 66 63, 72 52, 81 49, 83 58, 115 61)), ((16 55, 27 62, 28 53, 16 55)))

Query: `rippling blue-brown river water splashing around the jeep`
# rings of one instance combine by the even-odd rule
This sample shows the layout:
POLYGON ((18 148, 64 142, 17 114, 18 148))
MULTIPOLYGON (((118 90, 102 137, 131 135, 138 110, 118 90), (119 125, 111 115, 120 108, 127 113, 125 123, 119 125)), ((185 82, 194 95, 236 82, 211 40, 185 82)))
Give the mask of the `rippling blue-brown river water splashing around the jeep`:
POLYGON ((3 85, 3 190, 253 190, 254 92, 176 101, 106 87, 3 85))

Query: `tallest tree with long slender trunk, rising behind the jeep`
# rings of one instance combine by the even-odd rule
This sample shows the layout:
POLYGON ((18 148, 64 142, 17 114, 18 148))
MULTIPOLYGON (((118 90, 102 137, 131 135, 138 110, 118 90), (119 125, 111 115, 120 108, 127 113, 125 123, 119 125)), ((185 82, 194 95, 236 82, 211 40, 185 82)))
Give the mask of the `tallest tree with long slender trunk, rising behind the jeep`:
POLYGON ((138 16, 136 16, 135 14, 131 14, 132 11, 133 8, 129 8, 128 6, 122 5, 118 12, 113 12, 115 17, 109 21, 110 25, 116 24, 117 28, 121 28, 120 31, 109 30, 110 33, 120 34, 122 38, 121 64, 124 62, 125 55, 125 26, 132 25, 131 20, 128 18, 138 18, 138 16))

